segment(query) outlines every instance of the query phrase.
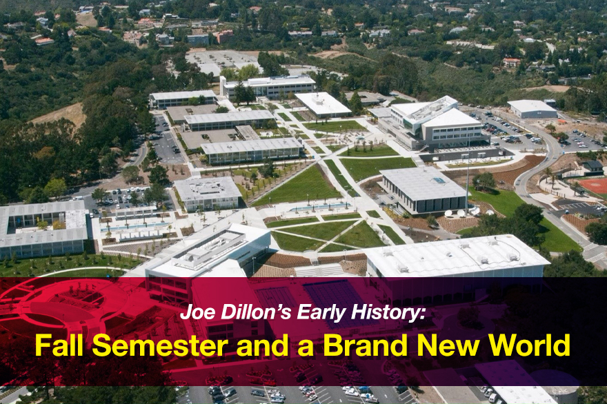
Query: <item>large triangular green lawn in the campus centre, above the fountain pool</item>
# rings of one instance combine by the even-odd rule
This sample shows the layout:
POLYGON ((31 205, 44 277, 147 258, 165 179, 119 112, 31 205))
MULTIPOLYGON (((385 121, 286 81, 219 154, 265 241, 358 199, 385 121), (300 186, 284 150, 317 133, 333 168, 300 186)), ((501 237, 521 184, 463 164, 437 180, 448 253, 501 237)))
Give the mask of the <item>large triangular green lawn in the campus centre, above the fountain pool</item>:
POLYGON ((319 166, 314 165, 275 190, 263 195, 252 206, 266 205, 270 203, 270 198, 272 198, 272 203, 306 201, 308 195, 310 200, 341 196, 321 174, 319 166))

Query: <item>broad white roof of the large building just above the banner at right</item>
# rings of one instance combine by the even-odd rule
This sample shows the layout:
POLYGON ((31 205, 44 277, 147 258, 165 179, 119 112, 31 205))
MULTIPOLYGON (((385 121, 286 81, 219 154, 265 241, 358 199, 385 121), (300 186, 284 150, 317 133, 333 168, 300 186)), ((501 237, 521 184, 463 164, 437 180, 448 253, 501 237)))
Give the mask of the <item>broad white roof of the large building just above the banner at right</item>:
POLYGON ((550 264, 511 234, 370 248, 365 254, 386 277, 458 276, 550 264))

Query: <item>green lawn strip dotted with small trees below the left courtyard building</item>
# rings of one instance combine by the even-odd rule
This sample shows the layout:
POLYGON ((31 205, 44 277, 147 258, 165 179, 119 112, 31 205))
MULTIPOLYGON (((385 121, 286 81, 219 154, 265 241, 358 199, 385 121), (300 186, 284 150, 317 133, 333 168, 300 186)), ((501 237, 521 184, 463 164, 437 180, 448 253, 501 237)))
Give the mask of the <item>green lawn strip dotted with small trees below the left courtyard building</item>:
MULTIPOLYGON (((49 259, 39 257, 33 259, 17 259, 13 262, 11 259, 5 259, 0 263, 0 276, 38 276, 42 274, 50 274, 56 271, 70 270, 79 267, 121 267, 130 269, 139 264, 138 259, 130 259, 128 256, 110 256, 110 255, 94 255, 88 254, 86 259, 82 254, 66 256, 53 256, 49 259)), ((65 276, 106 276, 109 270, 90 270, 90 272, 79 271, 66 272, 65 276)), ((117 274, 118 276, 121 274, 117 274)), ((63 275, 62 275, 63 276, 63 275)))

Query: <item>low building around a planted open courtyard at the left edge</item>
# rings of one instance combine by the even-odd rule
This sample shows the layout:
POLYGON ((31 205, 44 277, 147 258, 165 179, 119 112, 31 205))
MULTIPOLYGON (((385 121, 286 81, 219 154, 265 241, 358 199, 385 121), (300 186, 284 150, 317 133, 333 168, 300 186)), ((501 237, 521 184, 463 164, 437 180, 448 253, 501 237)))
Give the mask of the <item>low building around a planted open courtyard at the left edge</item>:
POLYGON ((0 207, 0 259, 79 254, 88 239, 86 222, 83 201, 0 207))

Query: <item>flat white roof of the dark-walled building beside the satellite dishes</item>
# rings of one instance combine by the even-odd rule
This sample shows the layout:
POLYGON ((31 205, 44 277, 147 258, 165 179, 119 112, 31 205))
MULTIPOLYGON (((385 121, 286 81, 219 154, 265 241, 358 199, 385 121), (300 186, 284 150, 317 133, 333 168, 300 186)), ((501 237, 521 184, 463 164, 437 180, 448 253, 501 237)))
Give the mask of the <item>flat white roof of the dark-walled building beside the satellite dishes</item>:
POLYGON ((434 167, 381 170, 383 176, 413 201, 466 196, 466 190, 434 167))

